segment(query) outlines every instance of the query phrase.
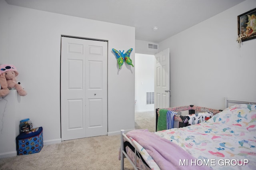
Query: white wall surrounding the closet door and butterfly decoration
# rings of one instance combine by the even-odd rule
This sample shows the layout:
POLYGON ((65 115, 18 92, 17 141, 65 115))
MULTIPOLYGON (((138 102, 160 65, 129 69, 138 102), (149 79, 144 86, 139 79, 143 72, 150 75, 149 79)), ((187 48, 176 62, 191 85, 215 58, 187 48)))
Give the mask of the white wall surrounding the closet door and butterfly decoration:
MULTIPOLYGON (((135 28, 12 6, 4 0, 0 23, 0 64, 17 67, 28 93, 15 107, 17 119, 30 118, 34 127, 42 126, 45 144, 61 138, 61 35, 108 40, 108 134, 134 129, 134 67, 124 64, 119 70, 112 48, 135 49, 135 28)), ((132 60, 134 56, 133 51, 132 60)))

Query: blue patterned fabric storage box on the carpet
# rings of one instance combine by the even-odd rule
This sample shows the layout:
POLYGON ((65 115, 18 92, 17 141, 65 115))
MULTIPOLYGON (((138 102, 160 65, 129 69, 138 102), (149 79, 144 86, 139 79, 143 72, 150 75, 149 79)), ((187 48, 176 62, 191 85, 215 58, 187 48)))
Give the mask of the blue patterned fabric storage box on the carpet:
POLYGON ((20 133, 16 137, 17 154, 26 155, 40 152, 44 146, 43 128, 38 127, 32 129, 29 133, 20 133))

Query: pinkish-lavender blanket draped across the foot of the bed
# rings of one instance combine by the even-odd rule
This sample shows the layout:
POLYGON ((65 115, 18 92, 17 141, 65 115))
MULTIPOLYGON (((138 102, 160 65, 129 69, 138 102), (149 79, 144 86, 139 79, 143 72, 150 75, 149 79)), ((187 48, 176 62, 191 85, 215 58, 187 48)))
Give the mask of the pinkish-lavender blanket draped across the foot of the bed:
MULTIPOLYGON (((126 134, 136 140, 158 164, 161 170, 211 170, 208 166, 180 166, 180 160, 196 160, 177 144, 146 130, 132 130, 126 134)), ((190 161, 189 161, 190 162, 190 161)))

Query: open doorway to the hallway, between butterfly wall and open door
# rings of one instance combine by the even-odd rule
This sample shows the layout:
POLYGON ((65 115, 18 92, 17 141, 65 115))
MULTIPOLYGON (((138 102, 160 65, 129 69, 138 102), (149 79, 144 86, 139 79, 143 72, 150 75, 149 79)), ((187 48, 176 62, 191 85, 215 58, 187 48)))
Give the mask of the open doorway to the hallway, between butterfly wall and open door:
POLYGON ((135 53, 135 128, 152 132, 155 127, 152 125, 155 117, 154 58, 154 55, 135 53))

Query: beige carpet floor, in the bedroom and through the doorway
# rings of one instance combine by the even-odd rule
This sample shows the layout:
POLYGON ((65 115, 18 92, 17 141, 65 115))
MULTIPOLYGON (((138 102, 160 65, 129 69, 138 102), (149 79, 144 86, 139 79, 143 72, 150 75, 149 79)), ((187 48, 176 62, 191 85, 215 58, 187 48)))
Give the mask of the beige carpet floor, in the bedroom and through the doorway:
MULTIPOLYGON (((155 113, 135 113, 135 128, 154 132, 155 113)), ((3 147, 3 146, 0 146, 3 147)), ((44 145, 35 154, 0 159, 0 170, 120 170, 120 135, 96 136, 44 145)), ((124 159, 124 169, 133 170, 124 159)))

